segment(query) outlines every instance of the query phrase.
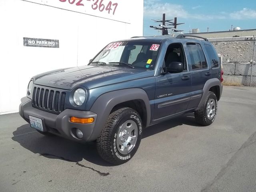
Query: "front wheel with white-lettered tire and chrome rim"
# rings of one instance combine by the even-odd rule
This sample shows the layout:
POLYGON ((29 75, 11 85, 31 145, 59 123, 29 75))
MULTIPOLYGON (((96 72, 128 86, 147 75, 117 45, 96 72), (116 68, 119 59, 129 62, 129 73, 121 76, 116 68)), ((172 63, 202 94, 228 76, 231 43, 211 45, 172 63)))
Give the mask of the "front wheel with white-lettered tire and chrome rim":
POLYGON ((142 120, 136 110, 121 108, 112 112, 96 141, 99 155, 112 164, 129 161, 140 145, 142 120))

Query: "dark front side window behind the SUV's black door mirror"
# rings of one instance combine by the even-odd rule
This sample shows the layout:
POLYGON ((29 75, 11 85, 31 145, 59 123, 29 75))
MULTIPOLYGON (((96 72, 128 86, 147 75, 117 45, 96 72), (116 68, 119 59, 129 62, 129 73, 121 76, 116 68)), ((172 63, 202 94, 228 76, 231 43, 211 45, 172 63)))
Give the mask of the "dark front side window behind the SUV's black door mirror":
POLYGON ((165 66, 169 67, 171 62, 180 62, 183 65, 183 71, 187 71, 187 62, 184 54, 184 49, 182 44, 174 43, 170 44, 167 48, 165 57, 164 57, 165 66))

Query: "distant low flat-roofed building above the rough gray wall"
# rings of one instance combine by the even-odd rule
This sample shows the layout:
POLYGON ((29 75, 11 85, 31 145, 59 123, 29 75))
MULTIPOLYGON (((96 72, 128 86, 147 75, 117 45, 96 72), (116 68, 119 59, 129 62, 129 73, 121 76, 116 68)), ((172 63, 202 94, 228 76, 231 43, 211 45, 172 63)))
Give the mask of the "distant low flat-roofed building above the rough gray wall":
POLYGON ((194 29, 192 29, 192 33, 190 34, 196 34, 205 38, 248 37, 256 36, 256 29, 239 30, 239 27, 236 27, 232 31, 216 31, 204 33, 196 32, 194 29))

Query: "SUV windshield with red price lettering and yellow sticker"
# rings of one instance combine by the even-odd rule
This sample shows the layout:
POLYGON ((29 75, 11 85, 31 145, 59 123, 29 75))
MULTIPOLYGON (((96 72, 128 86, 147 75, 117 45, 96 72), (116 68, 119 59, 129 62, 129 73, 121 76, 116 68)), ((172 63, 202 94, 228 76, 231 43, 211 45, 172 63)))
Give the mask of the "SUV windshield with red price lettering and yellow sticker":
POLYGON ((154 69, 159 50, 159 42, 114 42, 108 44, 90 65, 154 69))

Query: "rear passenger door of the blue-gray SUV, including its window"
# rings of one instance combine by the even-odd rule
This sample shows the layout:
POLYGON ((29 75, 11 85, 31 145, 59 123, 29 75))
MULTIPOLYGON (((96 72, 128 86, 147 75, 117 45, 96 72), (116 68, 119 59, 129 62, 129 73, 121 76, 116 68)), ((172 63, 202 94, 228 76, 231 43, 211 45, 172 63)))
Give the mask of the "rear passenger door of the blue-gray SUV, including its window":
POLYGON ((188 109, 197 107, 203 93, 204 84, 212 78, 211 69, 206 61, 206 56, 202 48, 202 44, 197 42, 187 42, 186 48, 189 55, 189 63, 191 67, 191 91, 192 96, 188 105, 188 109))

